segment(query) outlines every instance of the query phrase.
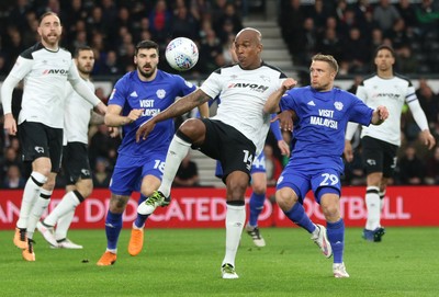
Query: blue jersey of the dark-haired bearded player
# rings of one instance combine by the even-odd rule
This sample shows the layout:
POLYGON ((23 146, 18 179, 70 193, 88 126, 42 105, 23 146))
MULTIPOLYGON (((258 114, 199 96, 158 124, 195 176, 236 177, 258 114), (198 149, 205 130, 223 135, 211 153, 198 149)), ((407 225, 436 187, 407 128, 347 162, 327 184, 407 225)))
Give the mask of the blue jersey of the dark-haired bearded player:
POLYGON ((154 115, 171 105, 176 98, 184 96, 196 89, 182 77, 157 70, 153 81, 142 81, 137 71, 123 76, 114 85, 109 105, 122 106, 122 115, 127 116, 134 108, 144 108, 135 122, 123 126, 123 140, 119 153, 133 157, 154 151, 166 151, 175 133, 173 119, 157 123, 146 140, 136 142, 137 128, 154 115))

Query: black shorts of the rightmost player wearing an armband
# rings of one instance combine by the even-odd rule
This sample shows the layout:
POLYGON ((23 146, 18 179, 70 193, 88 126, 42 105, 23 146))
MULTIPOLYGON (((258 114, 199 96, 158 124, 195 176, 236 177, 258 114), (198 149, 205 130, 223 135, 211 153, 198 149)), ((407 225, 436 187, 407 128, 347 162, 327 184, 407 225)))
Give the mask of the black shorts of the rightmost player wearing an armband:
POLYGON ((382 172, 384 178, 392 178, 396 167, 398 147, 386 141, 364 136, 361 139, 365 173, 382 172))

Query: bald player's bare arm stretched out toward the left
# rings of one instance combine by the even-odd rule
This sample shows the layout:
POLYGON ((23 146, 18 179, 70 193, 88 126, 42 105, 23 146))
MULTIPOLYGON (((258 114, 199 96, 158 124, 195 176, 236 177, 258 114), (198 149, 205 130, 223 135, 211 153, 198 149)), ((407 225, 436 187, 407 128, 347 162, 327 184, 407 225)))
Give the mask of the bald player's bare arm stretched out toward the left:
POLYGON ((138 142, 142 139, 146 139, 148 134, 154 129, 154 126, 168 118, 172 118, 179 115, 182 115, 196 106, 207 102, 211 98, 204 93, 201 89, 198 89, 181 98, 180 100, 172 103, 168 108, 158 113, 156 116, 146 121, 136 132, 136 141, 138 142))

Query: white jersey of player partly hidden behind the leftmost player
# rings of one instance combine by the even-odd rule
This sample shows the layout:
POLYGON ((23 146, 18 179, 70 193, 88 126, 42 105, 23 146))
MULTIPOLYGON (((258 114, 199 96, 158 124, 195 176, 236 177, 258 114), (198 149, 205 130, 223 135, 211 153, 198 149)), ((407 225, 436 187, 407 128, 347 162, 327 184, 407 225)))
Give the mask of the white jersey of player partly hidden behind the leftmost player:
MULTIPOLYGON (((87 87, 94 92, 94 84, 85 80, 87 87)), ((66 142, 88 144, 89 122, 93 105, 83 100, 74 88, 67 85, 66 107, 64 114, 64 139, 66 142)))

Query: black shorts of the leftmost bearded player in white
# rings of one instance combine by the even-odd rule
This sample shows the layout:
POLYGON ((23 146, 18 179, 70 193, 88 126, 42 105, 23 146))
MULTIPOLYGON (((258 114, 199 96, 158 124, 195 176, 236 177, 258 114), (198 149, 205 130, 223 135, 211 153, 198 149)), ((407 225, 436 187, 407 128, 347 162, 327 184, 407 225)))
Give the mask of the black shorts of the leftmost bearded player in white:
POLYGON ((52 162, 52 172, 59 172, 63 158, 61 128, 52 128, 42 123, 25 121, 19 125, 19 138, 23 161, 47 157, 52 162))

